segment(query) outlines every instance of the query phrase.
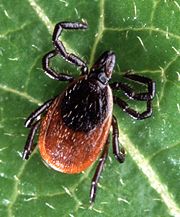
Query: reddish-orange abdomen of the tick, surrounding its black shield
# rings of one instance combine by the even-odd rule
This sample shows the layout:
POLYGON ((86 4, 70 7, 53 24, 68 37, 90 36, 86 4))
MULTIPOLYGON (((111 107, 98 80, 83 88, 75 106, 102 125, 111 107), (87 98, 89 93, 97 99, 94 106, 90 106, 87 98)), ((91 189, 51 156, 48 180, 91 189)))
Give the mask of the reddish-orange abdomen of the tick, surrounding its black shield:
POLYGON ((50 167, 64 173, 80 173, 97 159, 111 126, 110 88, 108 94, 109 112, 103 123, 89 132, 74 131, 67 127, 59 109, 62 95, 55 99, 42 121, 38 142, 41 156, 50 167))

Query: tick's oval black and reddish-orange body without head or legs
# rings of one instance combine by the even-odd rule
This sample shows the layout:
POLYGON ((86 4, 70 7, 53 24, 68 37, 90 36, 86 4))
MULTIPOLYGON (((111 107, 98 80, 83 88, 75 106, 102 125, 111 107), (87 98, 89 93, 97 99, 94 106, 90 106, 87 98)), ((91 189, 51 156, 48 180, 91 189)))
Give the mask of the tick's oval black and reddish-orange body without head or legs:
POLYGON ((41 124, 39 149, 44 161, 64 173, 79 173, 99 156, 112 119, 112 91, 83 76, 49 108, 41 124))

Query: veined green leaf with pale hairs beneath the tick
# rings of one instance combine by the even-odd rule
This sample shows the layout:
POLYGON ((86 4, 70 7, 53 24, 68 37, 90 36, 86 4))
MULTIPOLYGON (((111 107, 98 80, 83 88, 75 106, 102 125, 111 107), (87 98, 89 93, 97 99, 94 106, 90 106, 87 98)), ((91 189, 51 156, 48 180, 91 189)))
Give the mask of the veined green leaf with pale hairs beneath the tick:
MULTIPOLYGON (((0 216, 180 216, 179 12, 179 0, 0 1, 0 216), (96 163, 67 175, 46 168, 38 150, 28 161, 20 157, 28 135, 24 120, 67 85, 41 69, 42 56, 53 49, 54 25, 81 19, 87 31, 63 32, 68 51, 92 65, 114 50, 113 81, 133 69, 157 85, 151 118, 135 121, 114 107, 127 157, 118 164, 110 148, 92 209, 96 163)), ((52 64, 79 74, 65 61, 52 64)), ((128 102, 145 108, 144 102, 128 102)))

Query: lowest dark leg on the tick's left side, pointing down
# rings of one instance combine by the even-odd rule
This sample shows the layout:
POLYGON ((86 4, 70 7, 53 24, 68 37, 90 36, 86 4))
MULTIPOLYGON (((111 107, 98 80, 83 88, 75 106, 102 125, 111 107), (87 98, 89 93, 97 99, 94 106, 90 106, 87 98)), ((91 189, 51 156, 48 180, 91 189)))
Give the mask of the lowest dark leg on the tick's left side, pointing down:
POLYGON ((34 137, 36 135, 36 131, 37 131, 38 127, 39 127, 39 121, 37 121, 36 123, 34 123, 31 126, 26 144, 24 146, 24 151, 22 154, 23 160, 27 160, 29 158, 29 156, 31 155, 32 151, 34 150, 34 148, 36 147, 34 144, 34 137))

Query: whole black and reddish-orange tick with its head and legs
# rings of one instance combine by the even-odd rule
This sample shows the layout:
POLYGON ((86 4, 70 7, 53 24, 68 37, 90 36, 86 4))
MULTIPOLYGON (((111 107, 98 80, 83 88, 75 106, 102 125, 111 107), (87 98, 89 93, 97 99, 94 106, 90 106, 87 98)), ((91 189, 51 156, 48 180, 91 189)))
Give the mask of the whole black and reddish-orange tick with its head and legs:
POLYGON ((35 148, 34 137, 39 129, 40 154, 43 161, 54 170, 69 174, 80 173, 99 158, 90 188, 90 202, 93 203, 97 183, 108 155, 111 126, 113 154, 120 163, 125 160, 125 151, 119 145, 118 123, 113 115, 113 103, 135 119, 148 118, 152 114, 155 82, 147 77, 126 73, 124 77, 128 80, 147 86, 147 92, 142 93, 136 93, 127 83, 109 83, 115 65, 113 51, 104 52, 88 69, 87 64, 75 54, 68 53, 59 40, 63 29, 86 28, 87 24, 84 22, 56 24, 52 36, 54 50, 45 54, 42 66, 50 78, 69 81, 69 84, 60 95, 45 102, 27 118, 25 127, 29 128, 30 132, 22 156, 27 160, 31 155, 35 148), (56 72, 50 67, 50 60, 55 56, 79 67, 81 75, 74 78, 56 72), (130 108, 124 100, 113 95, 113 90, 123 91, 132 100, 145 101, 146 110, 139 113, 130 108))

